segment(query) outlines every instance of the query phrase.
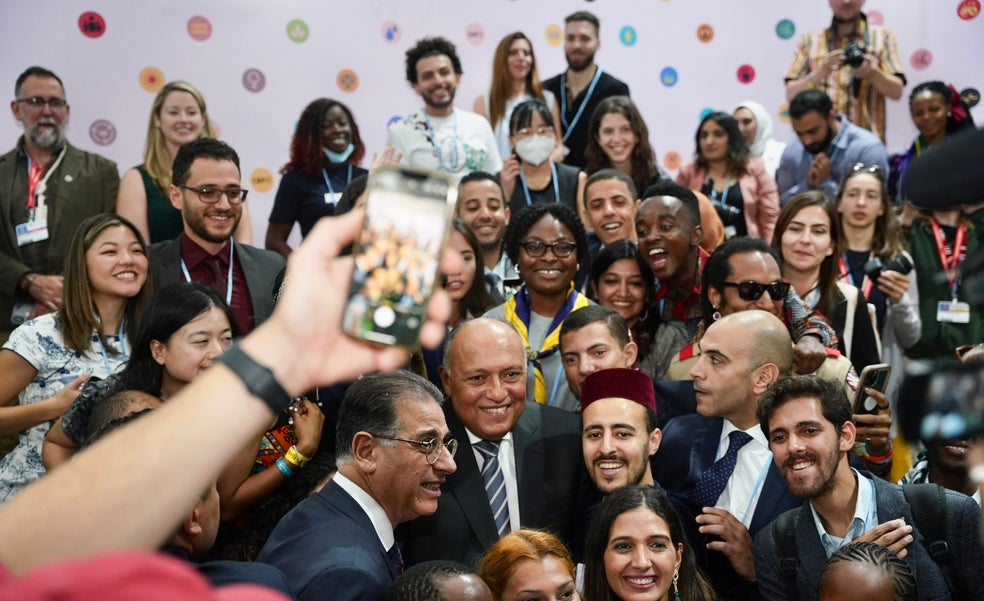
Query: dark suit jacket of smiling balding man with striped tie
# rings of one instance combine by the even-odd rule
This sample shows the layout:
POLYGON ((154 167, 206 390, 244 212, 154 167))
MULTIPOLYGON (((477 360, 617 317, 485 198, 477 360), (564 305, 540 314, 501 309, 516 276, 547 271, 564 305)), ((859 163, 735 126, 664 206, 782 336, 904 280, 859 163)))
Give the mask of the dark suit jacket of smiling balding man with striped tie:
MULTIPOLYGON (((441 489, 437 512, 397 529, 408 566, 433 559, 474 565, 499 539, 475 453, 450 399, 444 415, 461 445, 458 469, 441 489)), ((527 402, 512 434, 523 527, 549 530, 579 555, 587 508, 597 497, 584 468, 580 416, 527 402)))

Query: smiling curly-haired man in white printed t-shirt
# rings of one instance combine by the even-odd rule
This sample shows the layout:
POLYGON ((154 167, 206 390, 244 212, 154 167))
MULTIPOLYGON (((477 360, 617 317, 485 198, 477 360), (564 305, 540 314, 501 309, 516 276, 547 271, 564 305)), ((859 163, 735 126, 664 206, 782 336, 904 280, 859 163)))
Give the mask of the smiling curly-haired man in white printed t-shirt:
POLYGON ((389 128, 386 145, 403 153, 401 164, 459 178, 472 171, 502 169, 488 120, 454 106, 461 74, 457 50, 444 38, 424 38, 407 50, 407 81, 424 101, 424 109, 389 128))

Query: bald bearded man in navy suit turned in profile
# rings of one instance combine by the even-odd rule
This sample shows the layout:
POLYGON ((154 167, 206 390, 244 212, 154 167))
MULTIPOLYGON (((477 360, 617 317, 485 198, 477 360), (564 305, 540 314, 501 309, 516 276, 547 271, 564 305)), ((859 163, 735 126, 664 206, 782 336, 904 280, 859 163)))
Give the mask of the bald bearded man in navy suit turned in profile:
POLYGON ((752 536, 799 504, 755 416, 758 399, 792 370, 792 341, 777 317, 750 310, 714 322, 700 346, 697 414, 667 423, 653 476, 690 499, 691 540, 706 543, 694 546, 718 594, 746 599, 755 595, 752 536))

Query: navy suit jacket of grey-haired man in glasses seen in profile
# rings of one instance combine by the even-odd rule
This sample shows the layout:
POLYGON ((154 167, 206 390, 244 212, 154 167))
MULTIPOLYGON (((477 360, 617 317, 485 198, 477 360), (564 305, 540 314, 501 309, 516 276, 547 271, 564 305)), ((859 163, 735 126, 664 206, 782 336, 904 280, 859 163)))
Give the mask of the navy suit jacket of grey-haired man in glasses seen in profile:
POLYGON ((280 520, 256 560, 284 573, 299 601, 379 599, 397 576, 369 516, 329 482, 280 520))

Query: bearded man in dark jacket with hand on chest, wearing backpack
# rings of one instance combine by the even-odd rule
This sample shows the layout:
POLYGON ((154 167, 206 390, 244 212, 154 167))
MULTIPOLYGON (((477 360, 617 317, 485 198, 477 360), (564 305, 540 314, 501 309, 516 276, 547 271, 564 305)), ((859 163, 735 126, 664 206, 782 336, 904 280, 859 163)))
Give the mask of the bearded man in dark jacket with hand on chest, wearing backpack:
POLYGON ((785 378, 763 396, 758 417, 789 490, 806 501, 776 522, 783 524, 795 516, 790 524, 795 558, 780 551, 777 536, 786 534, 778 534, 782 532, 778 526, 763 529, 755 539, 763 598, 794 598, 782 566, 788 559, 798 560, 795 598, 815 600, 827 558, 852 540, 874 542, 897 553, 918 576, 920 600, 978 598, 984 588, 980 507, 966 495, 939 489, 946 510, 937 516, 943 523, 936 530, 948 546, 954 590, 930 555, 930 543, 940 541, 927 540, 930 533, 924 536, 919 531, 927 518, 913 514, 902 487, 856 471, 848 463, 857 427, 843 388, 816 376, 785 378))

